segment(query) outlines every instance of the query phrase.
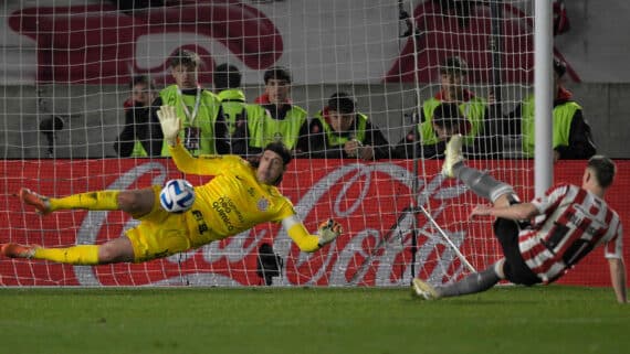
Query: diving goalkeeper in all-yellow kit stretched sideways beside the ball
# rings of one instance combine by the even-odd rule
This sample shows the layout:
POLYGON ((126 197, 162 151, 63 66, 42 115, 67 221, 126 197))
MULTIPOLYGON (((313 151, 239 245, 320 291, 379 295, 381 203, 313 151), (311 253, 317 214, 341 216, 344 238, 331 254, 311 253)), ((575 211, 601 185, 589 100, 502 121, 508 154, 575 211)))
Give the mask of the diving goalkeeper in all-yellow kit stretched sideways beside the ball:
POLYGON ((45 259, 70 265, 143 262, 198 248, 264 222, 282 223, 302 251, 315 251, 342 233, 342 225, 328 219, 311 235, 298 219, 293 204, 276 185, 291 161, 281 142, 265 147, 258 167, 237 155, 193 158, 178 141, 180 119, 171 106, 158 111, 164 137, 177 168, 183 173, 213 175, 195 187, 196 200, 185 213, 168 213, 160 207, 160 186, 130 191, 98 191, 54 199, 21 189, 19 196, 40 214, 59 210, 124 211, 140 223, 125 236, 102 245, 44 248, 36 245, 3 244, 1 253, 10 258, 45 259))

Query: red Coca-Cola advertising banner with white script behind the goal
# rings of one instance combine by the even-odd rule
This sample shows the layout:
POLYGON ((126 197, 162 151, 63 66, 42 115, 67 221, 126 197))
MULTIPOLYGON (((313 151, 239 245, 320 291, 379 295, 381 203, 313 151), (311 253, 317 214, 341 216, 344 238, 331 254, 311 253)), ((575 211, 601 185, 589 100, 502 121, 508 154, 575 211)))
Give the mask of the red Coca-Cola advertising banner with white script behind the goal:
MULTIPOLYGON (((444 180, 441 161, 348 163, 337 160, 296 160, 281 185, 311 232, 328 217, 345 233, 313 254, 301 253, 279 225, 251 230, 199 249, 145 264, 96 267, 57 265, 41 260, 0 259, 3 286, 250 286, 264 283, 258 273, 258 254, 270 244, 283 260, 273 285, 281 286, 407 286, 411 277, 449 281, 483 269, 500 256, 492 219, 469 219, 477 199, 462 184, 444 180), (414 185, 416 184, 416 185, 414 185), (412 191, 417 190, 413 194, 412 191), (454 247, 465 257, 462 260, 454 247)), ((630 216, 622 192, 630 181, 630 163, 618 161, 617 182, 609 204, 621 219, 630 216)), ((532 197, 533 161, 474 161, 532 197)), ((556 182, 579 184, 584 161, 561 161, 556 182)), ((46 247, 102 244, 120 237, 137 221, 114 211, 60 211, 39 216, 20 204, 21 186, 51 196, 105 189, 137 189, 181 178, 168 159, 3 160, 0 187, 0 243, 46 247)), ((211 176, 186 175, 193 184, 211 176)), ((629 256, 624 247, 626 257, 629 256)), ((608 262, 595 250, 560 282, 608 286, 608 262)))

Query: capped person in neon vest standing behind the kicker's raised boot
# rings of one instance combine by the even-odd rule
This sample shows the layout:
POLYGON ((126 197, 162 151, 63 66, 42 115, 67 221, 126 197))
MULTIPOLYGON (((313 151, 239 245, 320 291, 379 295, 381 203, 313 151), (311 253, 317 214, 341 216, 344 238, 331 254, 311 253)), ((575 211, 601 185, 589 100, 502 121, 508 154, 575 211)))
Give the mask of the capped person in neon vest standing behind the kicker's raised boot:
MULTIPOLYGON (((485 137, 486 131, 490 131, 487 125, 490 119, 486 119, 489 114, 489 101, 484 98, 476 96, 473 92, 464 88, 464 82, 468 74, 468 65, 464 60, 459 56, 448 57, 440 66, 440 92, 429 99, 427 99, 421 107, 418 125, 413 127, 409 133, 406 135, 401 144, 413 144, 420 141, 422 146, 434 146, 440 141, 433 124, 433 111, 442 103, 454 103, 459 106, 462 117, 469 122, 470 127, 464 136, 464 143, 469 152, 477 152, 490 154, 497 149, 498 142, 493 141, 492 137, 485 137)), ((492 97, 491 99, 492 100, 492 97)), ((401 151, 411 151, 411 149, 400 148, 401 151)), ((402 154, 400 158, 412 158, 411 154, 402 154)))

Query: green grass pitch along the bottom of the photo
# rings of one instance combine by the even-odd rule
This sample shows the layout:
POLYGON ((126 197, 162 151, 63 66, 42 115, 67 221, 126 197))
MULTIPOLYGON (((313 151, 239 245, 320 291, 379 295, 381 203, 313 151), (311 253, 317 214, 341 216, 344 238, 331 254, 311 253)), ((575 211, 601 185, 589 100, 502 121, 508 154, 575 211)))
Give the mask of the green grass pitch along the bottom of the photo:
POLYGON ((0 289, 0 353, 630 353, 611 289, 0 289))

